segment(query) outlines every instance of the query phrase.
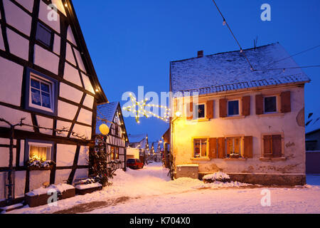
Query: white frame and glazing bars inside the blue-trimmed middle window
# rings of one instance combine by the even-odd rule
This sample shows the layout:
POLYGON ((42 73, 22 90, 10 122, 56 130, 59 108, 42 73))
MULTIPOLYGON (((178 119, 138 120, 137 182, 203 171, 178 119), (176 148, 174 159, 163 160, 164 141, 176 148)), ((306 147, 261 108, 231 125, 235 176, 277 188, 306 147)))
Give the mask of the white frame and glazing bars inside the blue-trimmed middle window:
POLYGON ((55 107, 55 103, 54 103, 54 97, 55 97, 55 94, 54 94, 54 91, 55 91, 55 88, 54 88, 54 83, 53 82, 50 82, 48 80, 46 80, 45 78, 42 78, 38 75, 36 75, 35 73, 31 73, 30 74, 30 86, 29 86, 29 106, 31 108, 37 108, 37 109, 41 109, 41 110, 44 110, 46 112, 49 112, 49 113, 54 113, 54 107, 55 107), (32 95, 31 95, 31 80, 36 80, 36 81, 39 81, 41 83, 44 83, 44 84, 47 84, 49 86, 49 90, 50 90, 50 105, 51 105, 51 108, 46 108, 46 107, 43 107, 42 106, 42 96, 41 96, 41 86, 40 86, 40 98, 41 98, 41 105, 36 105, 36 104, 33 104, 32 103, 32 95))

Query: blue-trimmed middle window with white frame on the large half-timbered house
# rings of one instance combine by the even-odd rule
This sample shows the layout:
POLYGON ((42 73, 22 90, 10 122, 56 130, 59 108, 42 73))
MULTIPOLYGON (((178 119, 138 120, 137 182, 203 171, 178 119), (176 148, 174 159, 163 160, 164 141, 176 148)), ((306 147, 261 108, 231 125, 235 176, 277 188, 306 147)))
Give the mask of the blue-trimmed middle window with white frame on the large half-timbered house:
POLYGON ((28 68, 26 86, 26 109, 57 115, 58 81, 28 68))

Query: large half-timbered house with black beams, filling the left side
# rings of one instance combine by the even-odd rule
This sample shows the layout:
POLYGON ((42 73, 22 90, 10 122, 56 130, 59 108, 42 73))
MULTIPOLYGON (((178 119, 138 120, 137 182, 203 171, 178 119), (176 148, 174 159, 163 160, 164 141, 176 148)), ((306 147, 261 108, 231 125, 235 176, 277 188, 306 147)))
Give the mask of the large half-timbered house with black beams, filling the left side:
POLYGON ((1 0, 0 24, 0 118, 24 124, 11 135, 0 121, 0 200, 87 177, 96 106, 107 98, 72 2, 1 0), (31 155, 54 165, 31 168, 31 155))

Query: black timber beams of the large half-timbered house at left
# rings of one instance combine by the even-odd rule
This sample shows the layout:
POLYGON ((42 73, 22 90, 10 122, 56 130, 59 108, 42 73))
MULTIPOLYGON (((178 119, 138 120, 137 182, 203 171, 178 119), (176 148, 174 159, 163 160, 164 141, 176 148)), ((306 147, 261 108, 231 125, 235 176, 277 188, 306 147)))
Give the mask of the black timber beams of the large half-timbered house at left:
MULTIPOLYGON (((34 0, 33 1, 33 7, 32 11, 28 11, 25 7, 23 7, 22 4, 19 4, 18 1, 14 0, 0 0, 0 13, 1 13, 1 19, 0 19, 0 36, 2 34, 2 38, 4 41, 4 50, 0 48, 0 61, 1 59, 5 59, 6 61, 10 61, 17 66, 21 66, 23 68, 23 79, 21 84, 21 98, 18 98, 21 100, 20 105, 17 105, 16 103, 4 101, 0 99, 0 118, 6 118, 6 116, 3 116, 3 110, 13 110, 13 112, 17 111, 19 113, 23 113, 23 115, 30 116, 32 120, 32 125, 35 125, 36 127, 32 130, 23 130, 22 128, 16 128, 12 130, 11 128, 4 127, 3 125, 0 126, 0 138, 2 139, 10 139, 13 138, 13 140, 10 140, 10 144, 0 142, 0 149, 1 148, 11 148, 15 149, 16 157, 15 160, 12 160, 12 157, 10 160, 12 160, 12 164, 9 164, 8 166, 1 167, 0 165, 0 175, 6 174, 8 170, 12 170, 13 172, 18 171, 25 171, 25 187, 24 187, 24 193, 29 192, 31 190, 30 181, 31 181, 31 170, 27 167, 26 162, 28 160, 28 157, 26 157, 26 142, 27 140, 41 140, 43 142, 50 141, 53 143, 53 154, 51 157, 51 160, 53 162, 57 161, 57 147, 59 144, 63 145, 74 145, 75 146, 75 156, 73 159, 73 165, 68 166, 57 166, 54 165, 50 168, 50 184, 55 184, 56 180, 56 172, 57 170, 71 170, 70 175, 68 177, 68 183, 72 184, 75 172, 76 170, 82 170, 82 169, 88 169, 88 165, 78 165, 79 155, 80 155, 80 147, 89 147, 90 152, 94 150, 94 135, 95 135, 95 125, 96 125, 96 118, 97 118, 97 103, 108 103, 107 97, 102 90, 102 87, 100 86, 100 82, 97 78, 97 73, 95 72, 95 68, 93 66, 92 60, 90 58, 90 54, 87 50, 87 46, 85 43, 85 39, 82 35, 82 31, 80 28, 80 24, 78 22, 78 18, 75 15, 75 9, 73 7, 73 3, 70 0, 61 0, 62 4, 65 5, 65 14, 58 11, 59 16, 59 23, 60 23, 60 32, 55 31, 53 28, 50 28, 50 31, 52 32, 52 37, 58 36, 60 38, 60 50, 59 53, 55 53, 53 50, 50 50, 50 48, 47 48, 46 46, 43 46, 43 43, 38 41, 36 39, 36 31, 37 31, 37 25, 38 23, 44 24, 41 19, 39 19, 40 11, 41 11, 41 4, 52 4, 53 2, 51 0, 34 0), (6 14, 9 14, 5 9, 5 4, 11 4, 14 6, 18 11, 23 12, 23 14, 26 14, 31 19, 31 32, 30 35, 26 35, 25 33, 21 32, 19 28, 16 28, 15 26, 12 26, 9 21, 7 20, 6 14), (73 37, 75 39, 75 43, 71 42, 68 39, 68 27, 70 27, 73 37), (20 56, 16 56, 14 53, 12 53, 10 40, 9 40, 9 34, 8 31, 13 31, 17 36, 22 37, 24 40, 28 41, 28 58, 21 58, 20 56), (36 46, 40 46, 45 51, 50 53, 51 56, 55 56, 55 58, 58 58, 58 73, 53 73, 53 71, 50 71, 50 69, 45 68, 43 66, 39 66, 36 64, 35 61, 35 48, 36 46), (75 63, 71 63, 67 60, 67 46, 71 47, 73 58, 75 59, 75 63), (80 53, 80 57, 76 56, 75 51, 78 51, 80 53), (83 62, 83 66, 85 69, 80 67, 80 63, 78 63, 79 58, 83 62), (65 65, 68 63, 69 66, 72 66, 76 69, 79 73, 81 85, 77 85, 76 83, 73 83, 73 81, 68 80, 68 78, 65 78, 65 65), (70 120, 68 118, 64 118, 58 114, 48 114, 43 113, 41 110, 31 110, 26 108, 26 74, 31 69, 32 71, 36 71, 40 73, 41 75, 48 76, 49 78, 52 78, 55 81, 58 81, 58 97, 57 100, 55 100, 56 103, 63 102, 68 105, 73 105, 78 108, 77 112, 75 113, 75 117, 70 120), (84 83, 84 77, 89 78, 90 85, 92 86, 93 90, 87 90, 85 83, 84 83), (82 98, 80 99, 80 102, 77 103, 73 101, 73 98, 65 98, 62 95, 60 95, 60 84, 65 84, 67 86, 70 86, 74 88, 75 90, 78 90, 79 93, 82 93, 82 98), (96 92, 96 93, 95 93, 96 92), (85 98, 88 96, 93 98, 93 105, 92 107, 88 107, 85 105, 85 98), (80 120, 80 111, 86 110, 92 113, 92 122, 84 123, 82 120, 80 120), (65 136, 57 135, 55 130, 52 130, 52 133, 41 133, 39 130, 40 125, 38 124, 38 118, 46 118, 53 121, 53 129, 57 128, 58 122, 68 123, 70 125, 70 133, 68 133, 65 136), (78 139, 74 138, 71 132, 75 129, 75 126, 78 125, 82 128, 91 128, 91 135, 90 138, 87 138, 87 140, 84 139, 78 139), (14 141, 14 142, 13 142, 14 141), (23 144, 24 143, 24 144, 23 144), (23 162, 21 162, 23 161, 23 162)), ((11 86, 6 85, 6 83, 1 84, 2 86, 11 86)), ((1 86, 1 87, 2 87, 1 86)), ((15 95, 13 93, 13 95, 15 95)), ((58 108, 58 107, 56 107, 58 108)), ((55 110, 56 111, 56 110, 55 110)), ((8 114, 8 113, 7 113, 8 114)), ((9 113, 10 115, 10 113, 9 113)), ((24 118, 25 116, 21 116, 19 118, 24 118)), ((14 123, 13 123, 14 124, 14 123)), ((8 150, 9 151, 9 150, 8 150)), ((11 162, 9 162, 11 163, 11 162)), ((13 183, 14 180, 11 180, 13 183)), ((14 187, 14 184, 11 184, 14 187)), ((3 186, 0 186, 0 190, 3 186)), ((40 186, 41 187, 41 186, 40 186)), ((7 202, 7 204, 13 204, 14 202, 17 202, 17 199, 14 194, 14 190, 11 190, 9 195, 11 194, 12 200, 10 202, 7 202)), ((20 198, 19 198, 20 199, 20 198)), ((0 198, 1 200, 1 198, 0 198)), ((0 206, 3 202, 0 202, 0 206)))

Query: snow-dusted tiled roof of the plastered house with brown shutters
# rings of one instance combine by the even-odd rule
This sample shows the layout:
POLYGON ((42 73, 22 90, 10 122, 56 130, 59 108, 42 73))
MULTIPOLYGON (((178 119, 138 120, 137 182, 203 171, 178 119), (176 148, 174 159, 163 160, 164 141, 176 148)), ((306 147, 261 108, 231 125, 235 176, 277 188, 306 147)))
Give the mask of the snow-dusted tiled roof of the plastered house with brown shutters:
POLYGON ((279 43, 250 48, 243 52, 255 71, 251 70, 240 51, 171 62, 172 92, 198 92, 201 95, 310 81, 279 43), (284 68, 290 69, 284 71, 284 68))

